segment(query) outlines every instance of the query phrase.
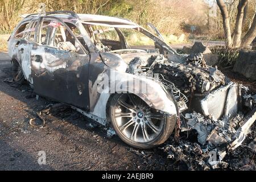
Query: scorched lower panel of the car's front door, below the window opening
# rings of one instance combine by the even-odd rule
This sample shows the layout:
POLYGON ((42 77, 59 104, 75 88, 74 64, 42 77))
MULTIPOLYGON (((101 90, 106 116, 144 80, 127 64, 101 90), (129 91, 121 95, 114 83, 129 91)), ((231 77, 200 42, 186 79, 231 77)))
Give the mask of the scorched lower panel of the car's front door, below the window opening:
POLYGON ((89 109, 89 55, 48 46, 34 46, 31 65, 35 93, 81 109, 89 109))

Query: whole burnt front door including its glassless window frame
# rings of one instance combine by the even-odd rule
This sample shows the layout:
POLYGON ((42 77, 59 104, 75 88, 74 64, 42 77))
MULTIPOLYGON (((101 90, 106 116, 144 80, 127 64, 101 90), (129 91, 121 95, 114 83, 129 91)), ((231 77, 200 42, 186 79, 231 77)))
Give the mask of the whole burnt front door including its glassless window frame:
POLYGON ((89 54, 71 28, 61 20, 42 18, 37 42, 31 50, 34 92, 88 109, 89 54))

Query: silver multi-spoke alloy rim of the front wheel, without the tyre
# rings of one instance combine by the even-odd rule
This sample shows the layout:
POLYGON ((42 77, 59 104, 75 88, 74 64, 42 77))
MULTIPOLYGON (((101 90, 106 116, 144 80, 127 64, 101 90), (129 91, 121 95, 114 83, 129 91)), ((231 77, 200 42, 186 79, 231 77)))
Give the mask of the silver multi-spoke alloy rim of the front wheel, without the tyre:
POLYGON ((122 94, 114 107, 114 120, 119 132, 137 143, 155 140, 163 130, 164 119, 162 113, 133 94, 122 94))

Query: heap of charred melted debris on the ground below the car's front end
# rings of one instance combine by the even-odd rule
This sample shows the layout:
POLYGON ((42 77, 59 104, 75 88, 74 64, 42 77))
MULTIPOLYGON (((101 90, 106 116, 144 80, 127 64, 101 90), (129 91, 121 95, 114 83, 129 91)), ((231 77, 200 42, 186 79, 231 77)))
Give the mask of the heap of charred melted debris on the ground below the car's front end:
POLYGON ((245 142, 234 151, 225 152, 225 147, 210 148, 207 144, 196 142, 192 131, 181 133, 180 143, 176 143, 174 135, 162 147, 153 150, 129 151, 141 157, 146 164, 144 170, 255 170, 255 151, 249 143, 256 137, 256 123, 245 142))

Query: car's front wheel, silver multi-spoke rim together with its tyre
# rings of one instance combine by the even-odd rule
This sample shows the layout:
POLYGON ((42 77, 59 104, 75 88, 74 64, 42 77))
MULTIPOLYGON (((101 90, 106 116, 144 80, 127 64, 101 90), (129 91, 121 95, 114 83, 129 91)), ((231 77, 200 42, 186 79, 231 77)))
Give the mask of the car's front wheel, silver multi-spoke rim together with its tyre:
POLYGON ((176 115, 164 115, 134 94, 115 94, 110 119, 118 136, 130 146, 152 148, 165 142, 176 124, 176 115))

